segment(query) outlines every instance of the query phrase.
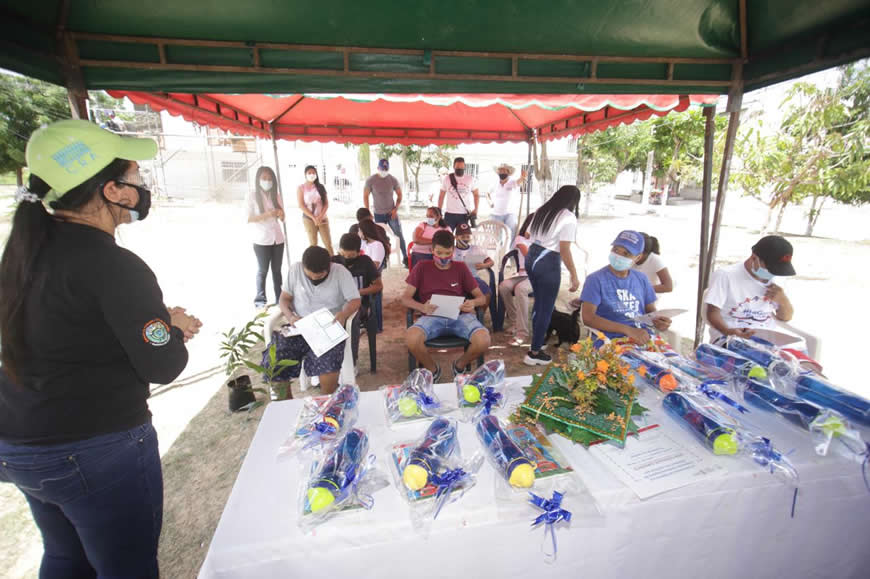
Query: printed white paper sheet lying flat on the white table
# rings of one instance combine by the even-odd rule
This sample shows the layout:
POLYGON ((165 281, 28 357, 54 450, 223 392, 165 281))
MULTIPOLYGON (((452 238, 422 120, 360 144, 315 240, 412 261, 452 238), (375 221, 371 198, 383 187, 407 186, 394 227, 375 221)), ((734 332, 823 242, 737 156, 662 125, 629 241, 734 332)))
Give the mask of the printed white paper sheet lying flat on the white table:
POLYGON ((641 500, 726 472, 705 448, 681 435, 657 426, 629 436, 624 449, 596 444, 589 452, 641 500))

